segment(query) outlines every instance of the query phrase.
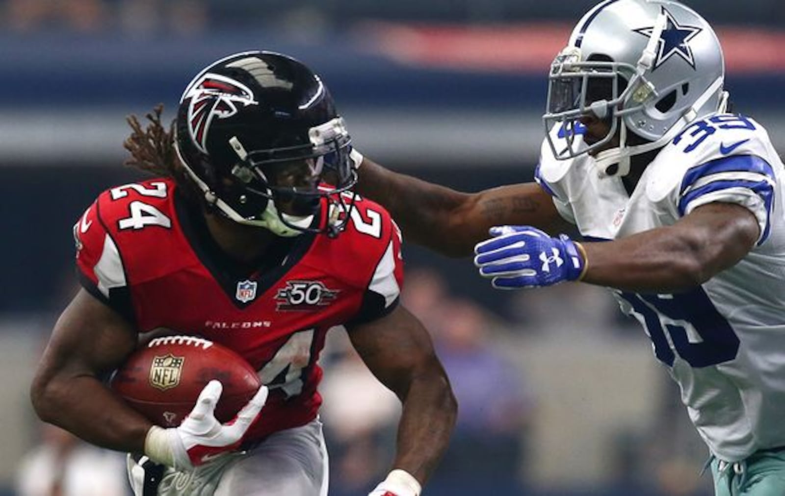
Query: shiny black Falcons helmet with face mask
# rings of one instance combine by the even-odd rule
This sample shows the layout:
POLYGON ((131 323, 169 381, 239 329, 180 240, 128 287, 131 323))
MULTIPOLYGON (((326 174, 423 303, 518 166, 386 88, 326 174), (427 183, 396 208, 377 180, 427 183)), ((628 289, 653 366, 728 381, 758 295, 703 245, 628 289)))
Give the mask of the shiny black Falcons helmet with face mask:
POLYGON ((337 235, 349 221, 351 138, 327 86, 298 60, 253 51, 210 64, 185 89, 176 131, 188 175, 232 221, 281 236, 337 235))

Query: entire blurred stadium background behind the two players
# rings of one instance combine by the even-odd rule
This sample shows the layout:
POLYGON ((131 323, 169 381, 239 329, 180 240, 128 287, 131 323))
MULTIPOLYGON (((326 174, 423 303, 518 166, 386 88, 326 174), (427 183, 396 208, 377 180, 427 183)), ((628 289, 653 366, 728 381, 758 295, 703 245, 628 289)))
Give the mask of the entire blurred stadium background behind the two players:
MULTIPOLYGON (((357 148, 378 162, 465 191, 530 181, 547 68, 593 3, 0 1, 0 494, 77 494, 16 492, 64 470, 41 461, 58 441, 27 387, 75 291, 71 225, 98 192, 140 177, 122 166, 126 115, 162 102, 171 118, 201 67, 272 49, 323 76, 357 148)), ((686 3, 717 27, 736 110, 785 144, 785 3, 686 3)), ((604 290, 502 294, 469 261, 405 250, 407 305, 462 405, 425 494, 711 494, 677 389, 604 290)), ((366 494, 386 472, 396 404, 335 334, 323 356, 330 494, 366 494)), ((79 463, 66 466, 96 476, 99 465, 79 463)))

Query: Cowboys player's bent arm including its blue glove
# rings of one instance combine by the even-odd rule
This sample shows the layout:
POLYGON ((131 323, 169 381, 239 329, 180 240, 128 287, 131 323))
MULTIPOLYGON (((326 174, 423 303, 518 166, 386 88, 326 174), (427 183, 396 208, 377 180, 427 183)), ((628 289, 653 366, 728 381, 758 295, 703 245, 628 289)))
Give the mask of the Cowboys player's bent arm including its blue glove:
POLYGON ((639 293, 673 293, 738 263, 759 234, 750 210, 714 202, 676 224, 604 243, 578 244, 528 226, 506 226, 477 245, 474 261, 480 275, 501 289, 582 280, 639 293))

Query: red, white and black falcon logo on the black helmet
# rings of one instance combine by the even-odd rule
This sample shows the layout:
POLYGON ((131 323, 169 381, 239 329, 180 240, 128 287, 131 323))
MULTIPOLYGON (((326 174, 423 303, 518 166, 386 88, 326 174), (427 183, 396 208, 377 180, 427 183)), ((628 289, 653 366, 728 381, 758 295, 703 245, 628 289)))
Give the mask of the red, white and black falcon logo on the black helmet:
POLYGON ((188 131, 196 148, 207 153, 206 140, 214 118, 226 119, 237 113, 237 105, 257 105, 254 93, 232 78, 207 73, 199 78, 185 93, 188 105, 188 131))

